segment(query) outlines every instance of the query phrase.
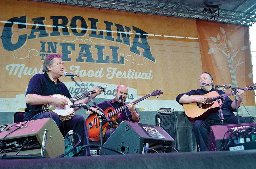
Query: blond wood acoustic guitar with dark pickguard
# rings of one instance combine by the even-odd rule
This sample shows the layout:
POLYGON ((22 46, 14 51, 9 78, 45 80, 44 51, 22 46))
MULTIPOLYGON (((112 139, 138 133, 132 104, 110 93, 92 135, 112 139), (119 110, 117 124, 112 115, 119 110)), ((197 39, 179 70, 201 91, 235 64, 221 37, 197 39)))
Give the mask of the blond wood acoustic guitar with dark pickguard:
MULTIPOLYGON (((256 86, 245 87, 246 90, 255 90, 256 86)), ((213 91, 205 95, 192 95, 192 96, 205 96, 206 103, 192 102, 192 103, 183 103, 184 112, 186 113, 188 120, 190 122, 195 122, 196 120, 203 120, 208 117, 210 114, 218 112, 219 104, 217 99, 220 99, 220 104, 222 103, 221 98, 231 96, 234 92, 225 93, 219 95, 218 92, 213 91)))

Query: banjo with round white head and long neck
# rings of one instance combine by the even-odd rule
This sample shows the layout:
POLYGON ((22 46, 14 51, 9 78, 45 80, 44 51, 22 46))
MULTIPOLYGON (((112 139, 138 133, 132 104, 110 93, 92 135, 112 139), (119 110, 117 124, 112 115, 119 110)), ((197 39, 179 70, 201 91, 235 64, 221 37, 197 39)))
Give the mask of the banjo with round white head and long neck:
MULTIPOLYGON (((100 89, 103 92, 105 91, 105 88, 100 87, 100 89)), ((66 121, 66 120, 71 119, 73 117, 73 115, 75 114, 75 108, 70 108, 70 105, 72 105, 75 101, 82 99, 84 97, 87 97, 88 95, 91 95, 93 93, 95 93, 95 92, 94 91, 85 92, 81 95, 72 97, 70 99, 67 98, 66 96, 60 95, 60 94, 50 95, 52 97, 57 97, 57 98, 62 98, 62 99, 67 100, 68 105, 66 105, 65 108, 61 109, 54 104, 46 104, 46 105, 43 105, 43 109, 57 113, 62 121, 66 121)))

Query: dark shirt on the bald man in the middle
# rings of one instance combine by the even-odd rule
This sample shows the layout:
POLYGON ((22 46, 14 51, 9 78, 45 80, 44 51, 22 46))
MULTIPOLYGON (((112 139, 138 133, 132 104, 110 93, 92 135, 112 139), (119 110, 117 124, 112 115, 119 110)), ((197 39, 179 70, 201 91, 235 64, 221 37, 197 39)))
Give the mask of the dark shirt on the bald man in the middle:
MULTIPOLYGON (((116 110, 116 109, 118 109, 118 108, 120 108, 120 107, 123 106, 123 104, 119 104, 118 102, 116 102, 116 99, 115 99, 115 98, 114 98, 113 100, 105 101, 105 102, 102 102, 102 103, 97 104, 97 105, 98 105, 99 108, 101 108, 103 111, 105 111, 105 110, 106 110, 107 108, 109 108, 109 107, 113 107, 113 108, 116 110)), ((93 107, 95 107, 95 106, 93 106, 93 107)), ((127 111, 127 114, 128 114, 128 117, 129 117, 130 121, 133 121, 133 120, 132 120, 132 114, 131 114, 131 112, 129 111, 128 108, 126 109, 126 111, 127 111)), ((136 113, 138 113, 136 109, 135 109, 135 111, 136 111, 136 113)), ((123 111, 120 113, 119 118, 116 120, 116 122, 117 122, 118 124, 120 124, 120 123, 121 123, 122 121, 124 121, 124 120, 126 120, 126 114, 125 114, 125 111, 123 110, 123 111)))

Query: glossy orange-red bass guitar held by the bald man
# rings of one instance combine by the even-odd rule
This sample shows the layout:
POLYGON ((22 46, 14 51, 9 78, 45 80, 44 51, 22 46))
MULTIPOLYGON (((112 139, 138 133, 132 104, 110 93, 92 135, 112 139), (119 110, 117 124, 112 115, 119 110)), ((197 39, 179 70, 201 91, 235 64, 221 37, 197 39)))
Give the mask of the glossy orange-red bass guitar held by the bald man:
MULTIPOLYGON (((161 95, 163 94, 162 90, 156 90, 156 91, 153 91, 152 93, 138 99, 138 100, 135 100, 133 101, 132 103, 135 105, 137 104, 138 102, 144 100, 144 99, 147 99, 148 97, 150 96, 158 96, 158 95, 161 95)), ((116 121, 118 118, 119 118, 119 115, 122 113, 122 111, 124 109, 127 108, 127 105, 125 106, 122 106, 118 109, 114 109, 112 107, 109 107, 108 109, 106 109, 104 111, 104 113, 106 114, 106 116, 113 120, 113 121, 116 121)), ((96 115, 96 114, 91 114, 90 117, 88 117, 86 119, 86 124, 87 124, 87 129, 88 129, 88 136, 91 140, 93 141, 98 141, 100 140, 100 124, 99 124, 99 117, 96 115)), ((105 135, 106 133, 106 130, 108 129, 108 122, 104 119, 102 119, 102 131, 103 131, 103 136, 105 135)))

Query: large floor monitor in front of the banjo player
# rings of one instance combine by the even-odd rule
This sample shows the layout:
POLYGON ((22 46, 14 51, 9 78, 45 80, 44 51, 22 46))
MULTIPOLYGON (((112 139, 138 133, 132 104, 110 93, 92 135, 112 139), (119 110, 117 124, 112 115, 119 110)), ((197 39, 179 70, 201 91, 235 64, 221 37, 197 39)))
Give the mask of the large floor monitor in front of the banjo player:
MULTIPOLYGON (((21 123, 25 124, 26 121, 21 123)), ((21 123, 13 123, 0 126, 0 142, 8 133, 21 126, 21 123)), ((64 138, 57 124, 51 118, 31 120, 27 122, 22 128, 15 130, 13 133, 5 137, 2 144, 0 145, 3 154, 16 155, 21 149, 25 140, 28 139, 27 144, 21 149, 18 155, 40 156, 45 129, 48 130, 46 132, 45 157, 54 158, 60 154, 63 154, 64 138)))

